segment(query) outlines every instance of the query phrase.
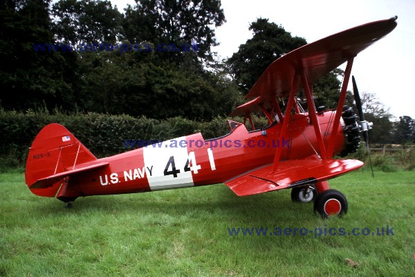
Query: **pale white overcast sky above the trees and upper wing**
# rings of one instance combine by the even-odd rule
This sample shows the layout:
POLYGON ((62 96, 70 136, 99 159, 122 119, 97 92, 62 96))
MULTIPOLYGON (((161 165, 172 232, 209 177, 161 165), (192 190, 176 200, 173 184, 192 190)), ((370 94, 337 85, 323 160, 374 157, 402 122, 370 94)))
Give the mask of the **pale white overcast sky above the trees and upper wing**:
MULTIPOLYGON (((123 12, 131 0, 111 0, 123 12)), ((221 57, 230 57, 252 37, 249 24, 268 18, 293 36, 308 43, 380 19, 398 16, 398 26, 389 35, 362 51, 353 62, 352 74, 359 91, 376 93, 394 116, 415 118, 415 1, 414 0, 222 0, 226 23, 216 29, 221 57)), ((345 64, 341 66, 345 68, 345 64)), ((351 90, 351 82, 349 84, 351 90)))

